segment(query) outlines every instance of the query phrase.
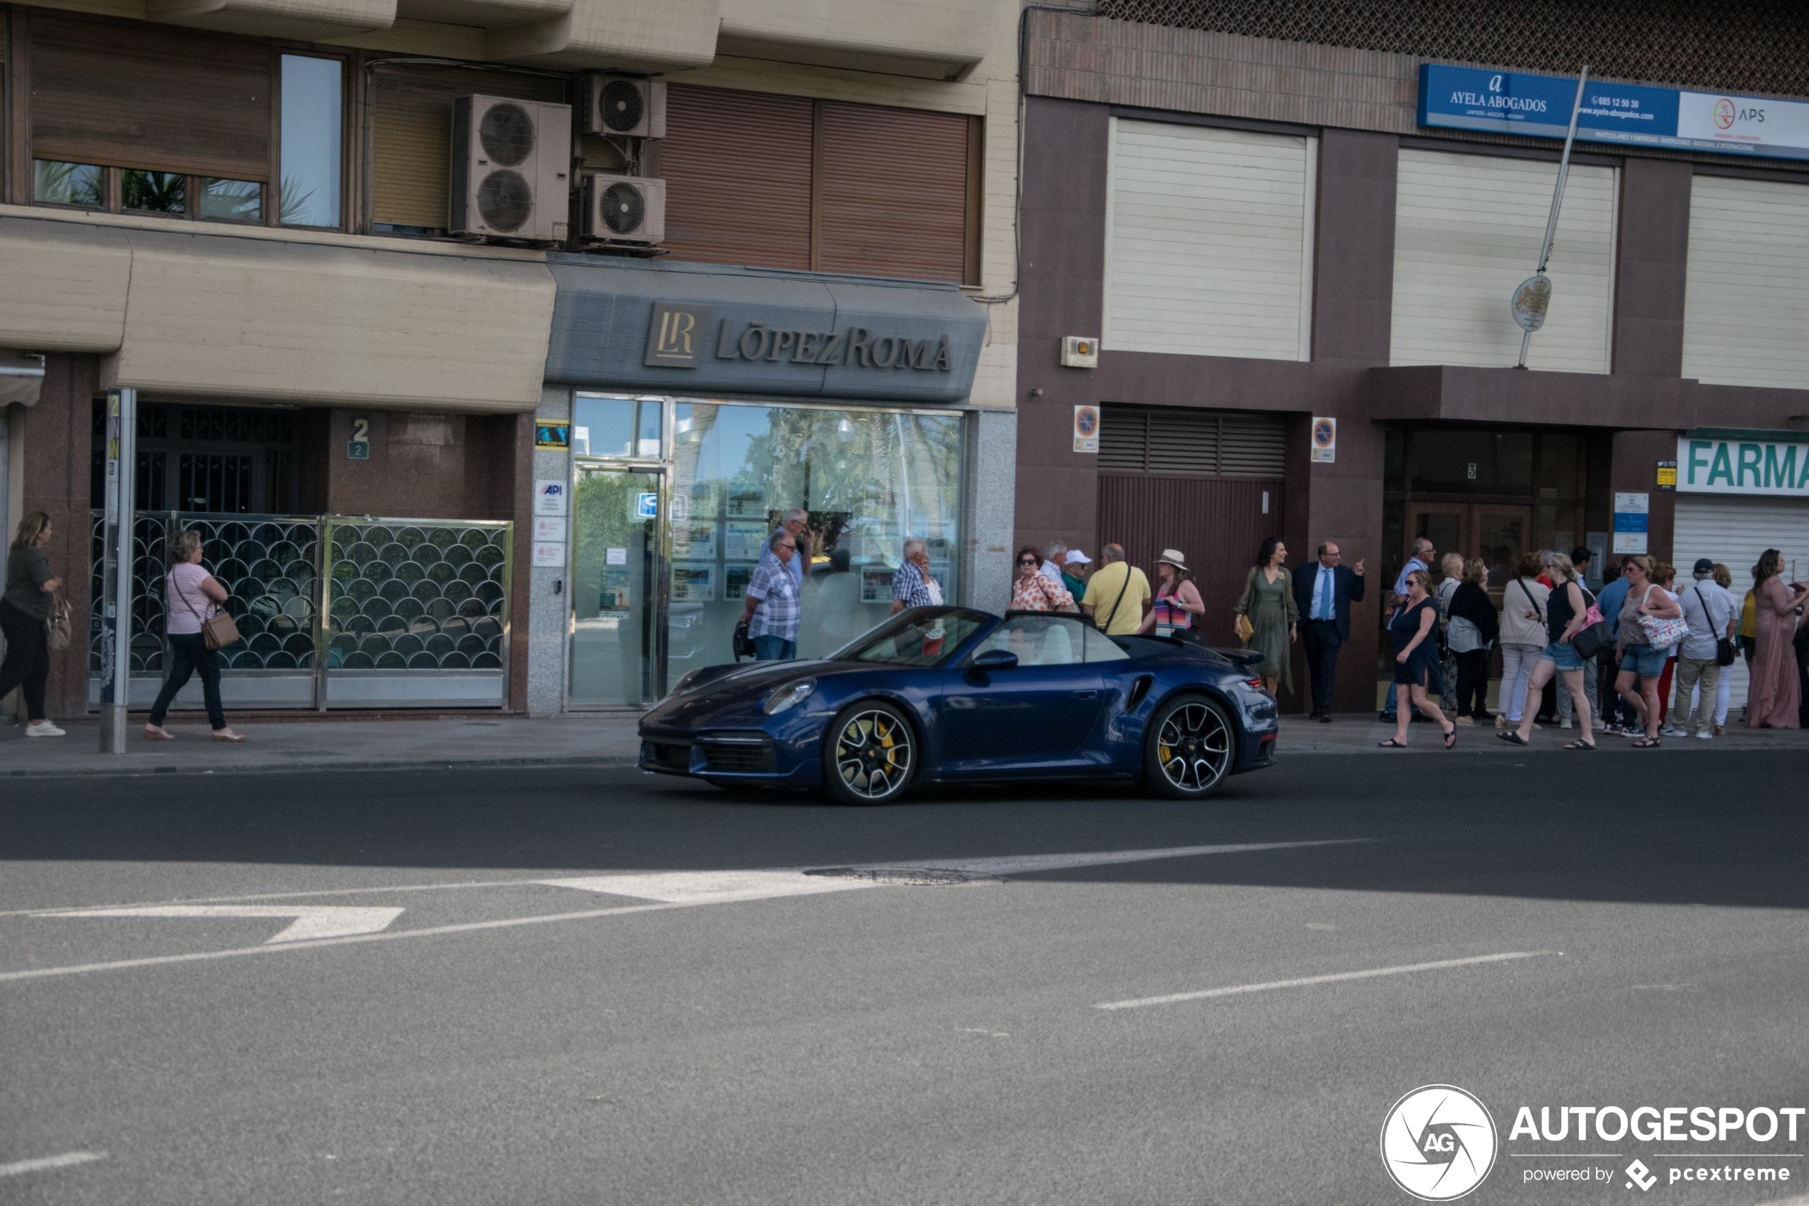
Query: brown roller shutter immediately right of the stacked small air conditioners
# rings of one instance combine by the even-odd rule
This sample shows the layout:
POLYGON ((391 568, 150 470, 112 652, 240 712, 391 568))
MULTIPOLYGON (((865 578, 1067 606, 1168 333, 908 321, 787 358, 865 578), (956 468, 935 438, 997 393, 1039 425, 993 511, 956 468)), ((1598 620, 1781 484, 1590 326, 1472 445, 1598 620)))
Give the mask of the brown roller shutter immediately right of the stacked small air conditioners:
POLYGON ((796 96, 675 83, 653 175, 677 260, 810 268, 810 116, 796 96))

